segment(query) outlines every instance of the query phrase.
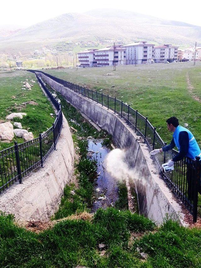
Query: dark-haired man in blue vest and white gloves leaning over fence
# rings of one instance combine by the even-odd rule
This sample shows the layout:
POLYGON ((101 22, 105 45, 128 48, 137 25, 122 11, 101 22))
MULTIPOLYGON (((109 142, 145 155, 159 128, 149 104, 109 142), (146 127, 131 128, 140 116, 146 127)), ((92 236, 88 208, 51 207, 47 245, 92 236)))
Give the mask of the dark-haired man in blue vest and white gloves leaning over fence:
MULTIPOLYGON (((155 155, 160 152, 166 152, 173 149, 175 146, 177 147, 179 153, 168 161, 168 166, 171 167, 175 162, 182 160, 184 157, 189 157, 195 160, 196 156, 201 156, 201 150, 196 142, 193 134, 187 128, 183 126, 179 126, 179 121, 177 117, 173 116, 166 120, 167 128, 169 131, 174 132, 172 141, 169 145, 155 149, 150 152, 151 155, 155 155)), ((192 187, 192 179, 191 177, 195 176, 194 170, 188 168, 187 165, 187 181, 188 181, 188 199, 191 200, 193 198, 193 187, 192 187)), ((200 187, 199 187, 200 191, 200 187)))

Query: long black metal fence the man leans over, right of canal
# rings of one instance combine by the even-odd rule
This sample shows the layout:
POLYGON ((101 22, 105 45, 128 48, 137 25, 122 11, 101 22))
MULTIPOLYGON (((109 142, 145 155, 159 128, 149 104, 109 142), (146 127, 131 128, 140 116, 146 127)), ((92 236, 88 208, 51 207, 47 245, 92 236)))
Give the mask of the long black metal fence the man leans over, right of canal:
MULTIPOLYGON (((30 71, 35 72, 33 70, 30 71)), ((147 117, 141 115, 138 110, 134 110, 129 105, 126 105, 122 101, 110 97, 109 95, 73 84, 42 71, 37 72, 43 73, 57 83, 62 84, 64 87, 70 88, 85 98, 91 99, 92 101, 105 106, 107 109, 114 111, 114 113, 123 118, 135 132, 143 137, 144 143, 147 144, 150 150, 158 149, 166 145, 157 133, 156 128, 153 127, 147 117)), ((175 163, 175 169, 173 171, 164 173, 161 165, 166 163, 169 159, 172 159, 177 153, 176 150, 171 150, 159 153, 153 156, 153 158, 161 169, 162 177, 167 185, 182 201, 188 211, 193 214, 193 221, 196 222, 198 212, 198 190, 200 185, 200 158, 196 157, 196 160, 184 158, 175 163)))

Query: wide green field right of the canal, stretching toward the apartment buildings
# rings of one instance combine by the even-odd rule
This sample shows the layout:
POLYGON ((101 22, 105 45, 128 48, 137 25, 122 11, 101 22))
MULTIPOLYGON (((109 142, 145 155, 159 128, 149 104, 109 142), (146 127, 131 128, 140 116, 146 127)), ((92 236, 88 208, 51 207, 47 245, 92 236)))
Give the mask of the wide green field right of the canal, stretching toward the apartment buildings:
POLYGON ((200 103, 192 97, 196 94, 201 98, 200 62, 196 66, 193 62, 117 66, 116 71, 113 67, 43 71, 90 89, 103 89, 104 94, 127 102, 148 117, 166 142, 171 140, 166 119, 177 116, 181 125, 188 124, 201 146, 200 103), (110 72, 114 75, 105 76, 110 72), (192 93, 188 90, 187 73, 194 87, 192 93))

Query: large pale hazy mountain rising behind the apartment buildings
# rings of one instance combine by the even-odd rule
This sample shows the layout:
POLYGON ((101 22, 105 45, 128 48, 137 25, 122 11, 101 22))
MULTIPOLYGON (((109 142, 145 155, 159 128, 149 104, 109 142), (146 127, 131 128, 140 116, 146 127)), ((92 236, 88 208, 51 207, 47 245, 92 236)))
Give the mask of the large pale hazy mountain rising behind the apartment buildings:
POLYGON ((201 27, 130 11, 95 9, 62 14, 14 32, 0 39, 0 52, 14 49, 30 51, 44 45, 52 47, 66 40, 73 43, 148 40, 157 44, 192 46, 195 40, 201 43, 201 27))

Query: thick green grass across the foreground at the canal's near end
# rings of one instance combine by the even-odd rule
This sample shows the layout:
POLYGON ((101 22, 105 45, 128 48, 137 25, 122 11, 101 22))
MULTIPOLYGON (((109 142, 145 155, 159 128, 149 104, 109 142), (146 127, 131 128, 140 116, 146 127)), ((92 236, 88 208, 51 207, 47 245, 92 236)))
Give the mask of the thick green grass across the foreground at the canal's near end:
POLYGON ((114 208, 99 209, 92 222, 65 220, 39 234, 17 227, 11 216, 0 216, 1 267, 199 268, 200 248, 199 229, 171 220, 157 229, 143 216, 114 208), (128 246, 133 232, 144 235, 128 246), (99 243, 105 244, 104 256, 99 243))

